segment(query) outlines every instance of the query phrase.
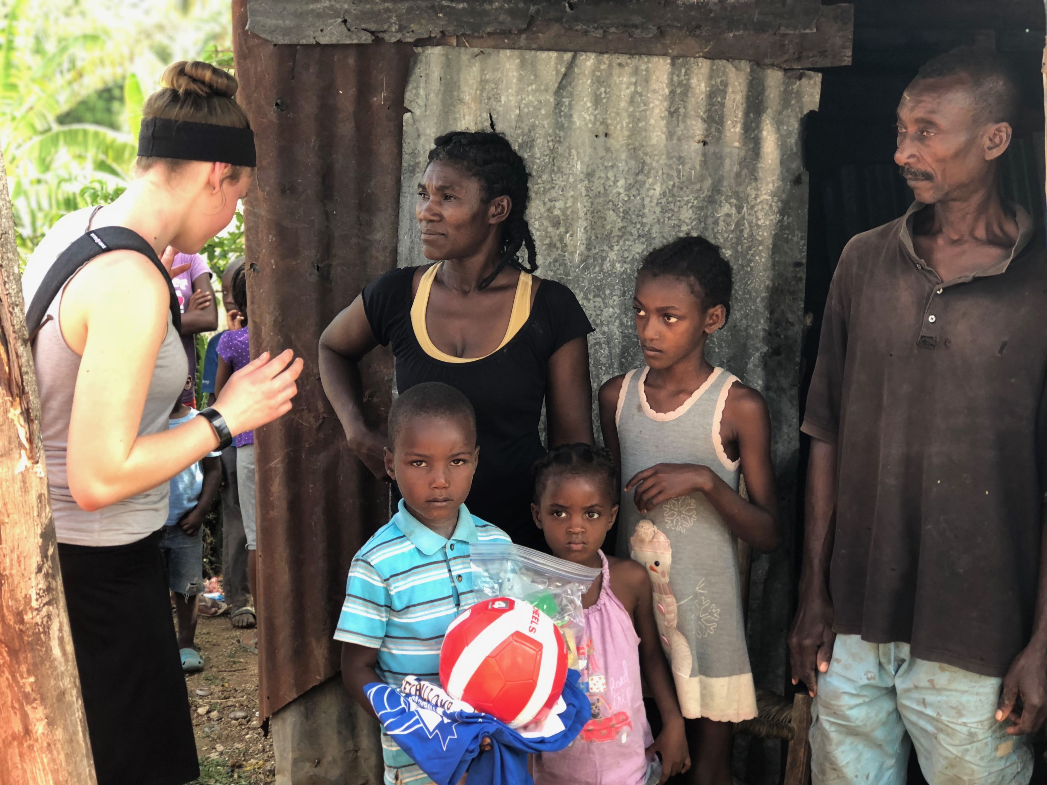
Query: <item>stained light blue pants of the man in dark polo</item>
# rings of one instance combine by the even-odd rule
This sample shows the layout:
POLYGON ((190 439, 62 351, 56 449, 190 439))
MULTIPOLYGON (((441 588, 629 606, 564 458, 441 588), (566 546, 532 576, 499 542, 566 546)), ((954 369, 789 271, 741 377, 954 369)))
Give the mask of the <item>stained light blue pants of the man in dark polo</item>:
POLYGON ((910 744, 931 785, 1026 785, 1032 747, 996 720, 1001 682, 917 659, 909 644, 837 636, 812 708, 814 785, 904 785, 910 744))

